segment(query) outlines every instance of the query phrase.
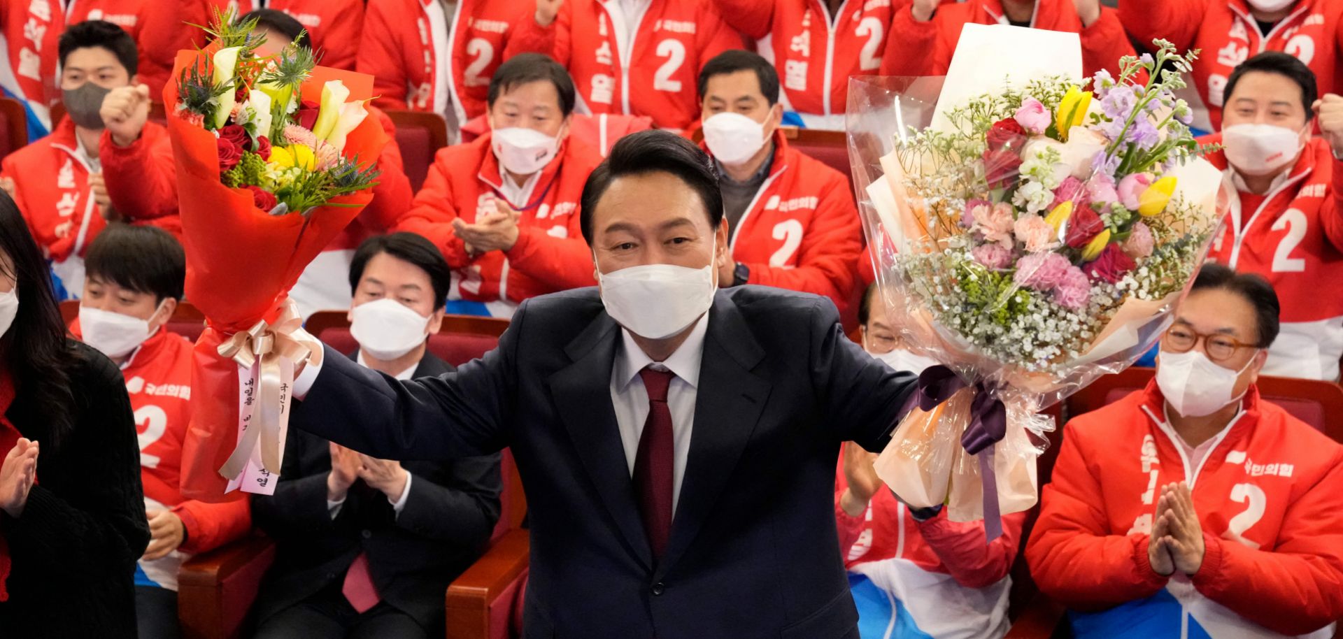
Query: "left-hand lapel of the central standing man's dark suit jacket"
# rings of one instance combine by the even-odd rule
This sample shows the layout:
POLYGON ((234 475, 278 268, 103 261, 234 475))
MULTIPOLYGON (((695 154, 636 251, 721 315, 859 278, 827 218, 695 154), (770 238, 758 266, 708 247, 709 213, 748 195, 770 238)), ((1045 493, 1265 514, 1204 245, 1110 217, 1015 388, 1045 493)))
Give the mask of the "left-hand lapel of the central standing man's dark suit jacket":
POLYGON ((615 321, 602 313, 564 349, 572 364, 551 376, 551 397, 573 439, 583 467, 631 553, 651 568, 653 552, 639 520, 634 483, 611 407, 616 330, 615 321))

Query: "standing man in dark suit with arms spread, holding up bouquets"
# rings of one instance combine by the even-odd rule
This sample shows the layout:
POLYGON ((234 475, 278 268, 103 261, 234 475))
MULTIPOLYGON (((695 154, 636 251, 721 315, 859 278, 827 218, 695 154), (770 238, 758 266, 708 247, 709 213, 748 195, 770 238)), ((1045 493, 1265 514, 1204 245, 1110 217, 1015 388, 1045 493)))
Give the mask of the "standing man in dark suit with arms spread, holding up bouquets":
POLYGON ((839 442, 881 450, 913 376, 849 341, 826 298, 717 289, 723 199, 688 140, 616 142, 582 220, 599 289, 529 299, 453 375, 400 383, 328 353, 295 383, 295 424, 389 458, 510 447, 528 638, 857 638, 839 442))

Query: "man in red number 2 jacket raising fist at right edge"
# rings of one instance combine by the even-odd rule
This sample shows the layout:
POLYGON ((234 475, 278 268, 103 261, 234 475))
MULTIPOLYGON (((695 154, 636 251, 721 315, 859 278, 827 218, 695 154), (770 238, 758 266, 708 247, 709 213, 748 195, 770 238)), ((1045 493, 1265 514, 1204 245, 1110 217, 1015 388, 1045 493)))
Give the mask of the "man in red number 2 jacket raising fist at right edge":
POLYGON ((1291 55, 1260 54, 1228 81, 1221 136, 1209 160, 1237 197, 1209 258, 1266 278, 1283 301, 1283 332, 1264 375, 1336 380, 1343 356, 1343 98, 1316 102, 1315 75, 1291 55), (1323 137, 1311 138, 1311 110, 1323 137))

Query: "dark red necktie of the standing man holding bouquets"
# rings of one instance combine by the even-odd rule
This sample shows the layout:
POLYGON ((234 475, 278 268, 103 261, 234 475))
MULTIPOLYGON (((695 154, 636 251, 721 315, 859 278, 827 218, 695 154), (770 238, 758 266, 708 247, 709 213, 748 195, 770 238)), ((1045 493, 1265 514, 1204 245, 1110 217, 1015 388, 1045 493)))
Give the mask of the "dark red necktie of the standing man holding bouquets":
POLYGON ((645 368, 639 371, 649 391, 649 419, 639 435, 639 452, 634 456, 634 490, 639 498, 643 530, 649 536, 653 557, 661 558, 672 532, 672 464, 676 456, 672 439, 672 411, 667 387, 674 373, 645 368))

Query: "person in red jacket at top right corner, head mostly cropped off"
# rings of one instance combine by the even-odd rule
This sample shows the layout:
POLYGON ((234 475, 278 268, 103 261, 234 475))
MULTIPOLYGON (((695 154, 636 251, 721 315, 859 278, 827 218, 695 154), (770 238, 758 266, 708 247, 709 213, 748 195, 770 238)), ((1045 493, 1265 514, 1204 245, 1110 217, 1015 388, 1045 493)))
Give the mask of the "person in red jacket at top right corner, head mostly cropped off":
POLYGON ((1222 128, 1232 71, 1256 54, 1292 54, 1315 71, 1322 93, 1343 90, 1343 4, 1335 0, 1124 0, 1119 19, 1135 42, 1202 51, 1183 97, 1205 132, 1222 128))

